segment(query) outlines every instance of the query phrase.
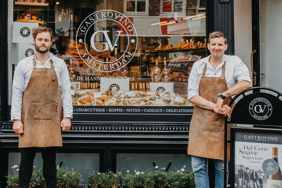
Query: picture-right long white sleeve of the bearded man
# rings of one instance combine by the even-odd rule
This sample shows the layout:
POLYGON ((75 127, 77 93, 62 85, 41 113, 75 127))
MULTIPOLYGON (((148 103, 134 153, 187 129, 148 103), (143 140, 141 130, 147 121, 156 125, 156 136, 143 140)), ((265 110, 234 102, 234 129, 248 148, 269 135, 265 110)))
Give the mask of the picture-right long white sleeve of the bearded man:
POLYGON ((60 75, 61 101, 63 105, 64 118, 72 119, 72 96, 70 94, 70 79, 67 65, 63 63, 60 75))

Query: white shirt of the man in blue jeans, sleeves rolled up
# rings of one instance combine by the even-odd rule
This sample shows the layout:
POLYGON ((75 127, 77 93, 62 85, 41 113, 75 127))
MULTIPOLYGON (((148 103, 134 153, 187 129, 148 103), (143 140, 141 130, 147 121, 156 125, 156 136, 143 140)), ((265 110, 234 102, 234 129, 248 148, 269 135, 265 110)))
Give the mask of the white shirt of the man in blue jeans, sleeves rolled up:
MULTIPOLYGON (((234 86, 239 81, 246 80, 252 83, 248 67, 237 56, 223 55, 222 62, 217 66, 216 70, 209 62, 210 56, 200 59, 193 64, 188 79, 188 100, 193 96, 199 95, 199 84, 202 77, 203 69, 207 63, 206 76, 207 77, 221 77, 222 65, 225 62, 225 80, 228 89, 234 86)), ((218 91, 224 92, 224 91, 218 91)))

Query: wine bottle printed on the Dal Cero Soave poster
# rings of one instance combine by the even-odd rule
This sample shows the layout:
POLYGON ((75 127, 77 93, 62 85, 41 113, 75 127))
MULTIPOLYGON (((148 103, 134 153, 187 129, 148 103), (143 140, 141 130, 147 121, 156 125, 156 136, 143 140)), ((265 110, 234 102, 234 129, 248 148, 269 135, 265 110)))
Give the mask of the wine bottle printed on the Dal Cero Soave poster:
MULTIPOLYGON (((278 163, 278 148, 272 148, 272 159, 278 163)), ((278 163, 278 172, 273 175, 268 175, 267 188, 282 187, 282 174, 278 163)))

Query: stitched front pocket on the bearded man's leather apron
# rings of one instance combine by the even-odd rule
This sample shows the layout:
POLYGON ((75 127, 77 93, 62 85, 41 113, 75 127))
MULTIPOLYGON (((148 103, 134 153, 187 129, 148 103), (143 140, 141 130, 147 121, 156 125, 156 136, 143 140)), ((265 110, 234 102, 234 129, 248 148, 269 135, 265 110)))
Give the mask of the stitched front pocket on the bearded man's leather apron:
POLYGON ((31 106, 36 120, 52 120, 56 114, 56 101, 31 101, 31 106))

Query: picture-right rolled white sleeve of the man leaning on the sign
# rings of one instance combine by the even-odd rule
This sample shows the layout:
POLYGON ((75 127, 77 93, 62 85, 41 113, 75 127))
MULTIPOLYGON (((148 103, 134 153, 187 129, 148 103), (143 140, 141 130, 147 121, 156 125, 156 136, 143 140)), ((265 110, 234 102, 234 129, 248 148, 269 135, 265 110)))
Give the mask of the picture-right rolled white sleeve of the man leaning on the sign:
POLYGON ((248 67, 242 62, 242 60, 237 57, 235 67, 234 67, 234 76, 235 79, 239 81, 248 81, 252 83, 252 79, 250 78, 250 73, 248 67))

